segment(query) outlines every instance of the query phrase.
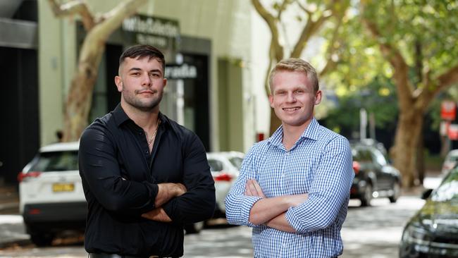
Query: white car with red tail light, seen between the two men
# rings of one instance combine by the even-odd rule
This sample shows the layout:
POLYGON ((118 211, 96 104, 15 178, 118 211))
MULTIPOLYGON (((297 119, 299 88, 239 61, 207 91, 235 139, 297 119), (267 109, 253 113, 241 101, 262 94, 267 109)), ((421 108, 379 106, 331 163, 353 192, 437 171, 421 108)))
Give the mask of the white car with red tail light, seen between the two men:
POLYGON ((213 217, 225 216, 224 199, 239 176, 244 157, 242 152, 207 152, 206 159, 215 180, 216 211, 213 217))

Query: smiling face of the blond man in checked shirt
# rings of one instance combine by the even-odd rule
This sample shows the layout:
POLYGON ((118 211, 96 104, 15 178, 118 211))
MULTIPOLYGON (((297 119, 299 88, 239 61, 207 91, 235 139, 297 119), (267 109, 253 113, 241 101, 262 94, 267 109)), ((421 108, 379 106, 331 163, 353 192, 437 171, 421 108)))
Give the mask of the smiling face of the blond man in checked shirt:
POLYGON ((313 117, 314 106, 321 102, 321 91, 314 92, 304 73, 280 70, 273 77, 268 99, 283 127, 307 126, 313 117))

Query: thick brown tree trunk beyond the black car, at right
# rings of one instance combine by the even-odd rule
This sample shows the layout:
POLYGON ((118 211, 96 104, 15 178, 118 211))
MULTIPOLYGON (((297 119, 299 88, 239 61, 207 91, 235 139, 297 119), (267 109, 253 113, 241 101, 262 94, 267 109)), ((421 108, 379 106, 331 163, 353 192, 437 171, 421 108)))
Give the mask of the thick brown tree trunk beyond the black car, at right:
POLYGON ((416 178, 416 149, 419 146, 421 127, 423 126, 423 111, 401 111, 397 123, 395 146, 392 148, 394 166, 402 174, 402 186, 411 188, 416 178))

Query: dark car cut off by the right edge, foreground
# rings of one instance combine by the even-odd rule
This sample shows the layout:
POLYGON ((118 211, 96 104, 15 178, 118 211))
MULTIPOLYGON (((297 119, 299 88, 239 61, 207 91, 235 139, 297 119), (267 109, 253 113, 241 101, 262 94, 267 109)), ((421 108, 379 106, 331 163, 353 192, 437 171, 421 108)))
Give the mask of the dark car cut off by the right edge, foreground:
POLYGON ((400 257, 458 257, 458 167, 423 199, 402 233, 400 257))

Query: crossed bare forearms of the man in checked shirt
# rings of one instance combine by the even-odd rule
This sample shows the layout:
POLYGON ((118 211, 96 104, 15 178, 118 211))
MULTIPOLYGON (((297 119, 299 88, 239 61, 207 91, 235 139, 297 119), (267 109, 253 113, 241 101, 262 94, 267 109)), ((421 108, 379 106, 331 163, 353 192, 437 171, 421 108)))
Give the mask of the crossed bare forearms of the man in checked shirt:
POLYGON ((290 223, 286 219, 286 211, 290 207, 296 207, 307 201, 307 194, 302 195, 283 195, 267 198, 259 183, 254 179, 248 179, 245 184, 245 195, 261 197, 254 203, 249 211, 249 222, 255 225, 265 224, 270 228, 279 231, 295 233, 290 223))

